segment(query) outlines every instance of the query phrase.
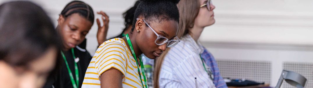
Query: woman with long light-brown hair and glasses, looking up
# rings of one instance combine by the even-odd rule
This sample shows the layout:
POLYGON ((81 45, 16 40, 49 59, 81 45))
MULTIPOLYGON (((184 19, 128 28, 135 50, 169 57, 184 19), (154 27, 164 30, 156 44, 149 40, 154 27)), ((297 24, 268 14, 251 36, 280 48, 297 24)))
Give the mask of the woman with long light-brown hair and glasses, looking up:
POLYGON ((210 61, 202 54, 208 52, 198 40, 204 27, 215 23, 212 1, 181 0, 177 7, 181 42, 156 59, 154 88, 227 88, 219 73, 215 74, 217 65, 205 63, 210 61))

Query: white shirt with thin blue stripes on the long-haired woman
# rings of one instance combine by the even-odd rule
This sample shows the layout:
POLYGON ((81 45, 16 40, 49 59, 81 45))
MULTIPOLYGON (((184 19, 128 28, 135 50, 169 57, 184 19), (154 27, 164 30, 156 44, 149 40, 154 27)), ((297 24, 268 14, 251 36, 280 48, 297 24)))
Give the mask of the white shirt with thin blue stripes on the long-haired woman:
POLYGON ((216 88, 199 55, 203 46, 190 35, 181 40, 164 58, 159 75, 160 88, 196 88, 195 77, 198 88, 216 88))

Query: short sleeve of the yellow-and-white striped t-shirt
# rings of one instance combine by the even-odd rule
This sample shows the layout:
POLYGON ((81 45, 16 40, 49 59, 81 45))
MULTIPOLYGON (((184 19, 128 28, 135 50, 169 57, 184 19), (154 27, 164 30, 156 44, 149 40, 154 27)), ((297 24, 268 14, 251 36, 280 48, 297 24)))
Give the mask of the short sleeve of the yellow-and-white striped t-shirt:
MULTIPOLYGON (((95 68, 99 77, 103 72, 110 68, 115 68, 123 73, 126 73, 126 48, 118 42, 104 43, 96 53, 95 68)), ((124 80, 124 78, 123 78, 124 80)))

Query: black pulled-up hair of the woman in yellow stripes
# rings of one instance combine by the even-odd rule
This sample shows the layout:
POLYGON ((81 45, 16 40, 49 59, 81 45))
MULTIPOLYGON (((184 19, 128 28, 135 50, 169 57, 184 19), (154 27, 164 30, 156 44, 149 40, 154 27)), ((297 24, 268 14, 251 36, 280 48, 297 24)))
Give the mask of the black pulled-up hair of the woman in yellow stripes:
POLYGON ((143 16, 149 21, 162 22, 164 20, 174 20, 179 23, 179 12, 177 3, 180 0, 140 0, 133 19, 131 33, 135 28, 137 22, 136 18, 143 16))

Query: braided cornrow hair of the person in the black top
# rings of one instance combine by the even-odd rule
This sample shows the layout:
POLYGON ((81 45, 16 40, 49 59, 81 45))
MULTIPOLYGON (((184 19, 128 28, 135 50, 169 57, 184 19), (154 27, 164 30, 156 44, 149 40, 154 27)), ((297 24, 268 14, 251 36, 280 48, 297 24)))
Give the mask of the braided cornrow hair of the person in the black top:
POLYGON ((64 16, 64 18, 66 19, 66 17, 68 17, 74 13, 78 13, 78 14, 80 14, 80 16, 85 17, 93 25, 94 20, 95 20, 94 11, 92 10, 92 7, 90 7, 85 2, 76 1, 76 0, 69 2, 64 7, 64 9, 62 10, 60 15, 64 16))

